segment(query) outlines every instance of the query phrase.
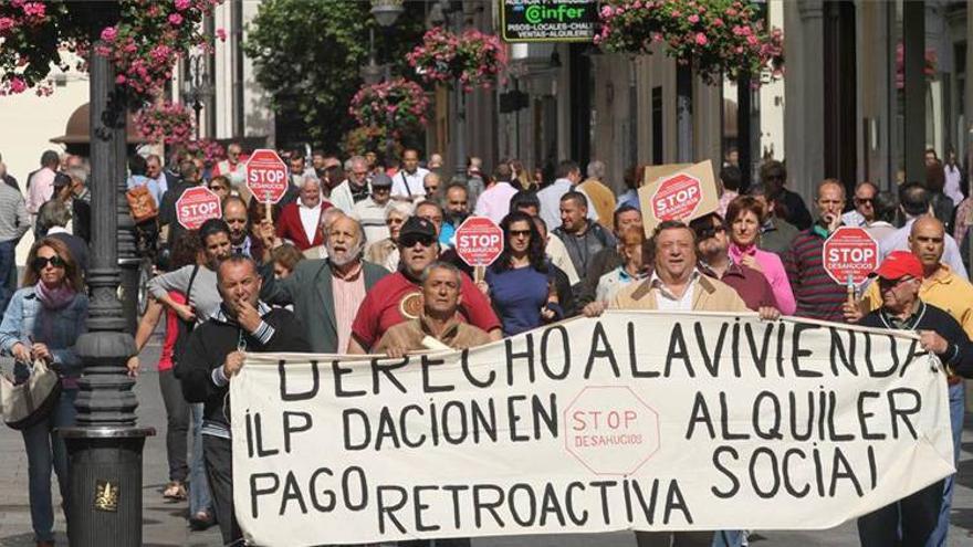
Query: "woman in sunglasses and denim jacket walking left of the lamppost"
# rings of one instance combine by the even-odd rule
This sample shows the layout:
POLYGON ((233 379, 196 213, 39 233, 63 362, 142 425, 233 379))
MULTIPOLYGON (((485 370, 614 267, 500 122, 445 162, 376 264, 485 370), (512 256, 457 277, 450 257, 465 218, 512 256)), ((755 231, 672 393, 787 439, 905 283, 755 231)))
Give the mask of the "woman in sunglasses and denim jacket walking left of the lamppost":
POLYGON ((23 288, 13 294, 0 323, 0 354, 15 359, 17 382, 30 377, 31 365, 43 359, 61 378, 61 397, 51 413, 21 431, 27 448, 31 523, 39 546, 54 545, 51 469, 57 473, 63 506, 67 506, 67 451, 55 428, 74 424, 74 399, 81 358, 74 351, 85 333, 87 296, 81 271, 61 240, 44 238, 31 248, 23 288))

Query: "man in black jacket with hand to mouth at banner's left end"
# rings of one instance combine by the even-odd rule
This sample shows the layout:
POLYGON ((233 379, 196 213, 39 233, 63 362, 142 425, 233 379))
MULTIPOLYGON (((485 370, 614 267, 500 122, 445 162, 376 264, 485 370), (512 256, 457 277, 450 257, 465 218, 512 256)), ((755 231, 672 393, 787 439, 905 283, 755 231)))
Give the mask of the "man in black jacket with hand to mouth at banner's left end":
POLYGON ((308 351, 304 329, 291 312, 260 302, 261 277, 249 257, 220 263, 219 311, 192 330, 179 364, 182 395, 203 403, 202 453, 223 545, 242 538, 233 513, 230 442, 230 379, 243 367, 244 351, 308 351))

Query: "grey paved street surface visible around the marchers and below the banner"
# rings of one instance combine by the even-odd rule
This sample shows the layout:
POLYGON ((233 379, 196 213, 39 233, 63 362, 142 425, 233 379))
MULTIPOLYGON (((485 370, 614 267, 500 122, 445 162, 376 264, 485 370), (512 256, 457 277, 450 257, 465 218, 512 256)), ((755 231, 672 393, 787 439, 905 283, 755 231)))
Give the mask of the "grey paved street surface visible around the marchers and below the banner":
MULTIPOLYGON (((151 370, 158 357, 158 346, 151 345, 143 355, 143 370, 136 387, 140 406, 139 423, 165 430, 165 410, 158 392, 157 376, 151 370)), ((4 359, 4 370, 10 361, 4 359)), ((967 424, 973 415, 967 418, 967 424)), ((0 430, 0 547, 32 546, 30 512, 27 493, 27 457, 20 435, 10 429, 0 430)), ((216 546, 220 545, 216 527, 207 532, 189 532, 186 526, 186 504, 163 503, 161 488, 167 480, 165 435, 150 438, 145 450, 144 478, 144 541, 146 546, 216 546)), ((64 519, 57 518, 59 544, 66 545, 64 519)), ((854 524, 846 524, 827 532, 756 533, 751 545, 772 546, 849 546, 857 544, 854 524)), ((631 534, 605 534, 598 536, 519 536, 474 541, 475 547, 634 547, 631 534)), ((953 527, 950 530, 951 547, 973 545, 973 427, 967 425, 963 443, 963 461, 960 481, 953 503, 953 527)))

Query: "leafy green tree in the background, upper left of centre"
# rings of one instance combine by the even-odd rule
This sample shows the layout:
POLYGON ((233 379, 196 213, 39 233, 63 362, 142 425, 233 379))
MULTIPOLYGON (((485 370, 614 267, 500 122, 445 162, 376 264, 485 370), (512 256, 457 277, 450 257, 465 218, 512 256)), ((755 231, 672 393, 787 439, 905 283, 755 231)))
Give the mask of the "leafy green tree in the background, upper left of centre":
POLYGON ((422 2, 406 2, 388 32, 370 2, 268 0, 260 6, 244 43, 255 77, 271 94, 278 140, 335 148, 356 126, 348 104, 368 62, 368 31, 375 30, 377 62, 393 61, 393 74, 410 71, 406 53, 423 32, 422 2), (283 127, 282 127, 283 126, 283 127))

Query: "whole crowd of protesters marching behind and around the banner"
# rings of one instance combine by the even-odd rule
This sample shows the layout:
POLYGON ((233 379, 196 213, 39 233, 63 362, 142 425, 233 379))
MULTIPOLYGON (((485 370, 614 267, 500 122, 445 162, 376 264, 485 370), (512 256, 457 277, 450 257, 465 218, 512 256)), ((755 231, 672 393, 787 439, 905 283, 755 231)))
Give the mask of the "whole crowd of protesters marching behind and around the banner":
MULTIPOLYGON (((960 375, 973 369, 973 285, 960 243, 973 227, 973 198, 963 196, 952 155, 943 166, 930 150, 925 180, 896 192, 860 182, 850 202, 840 181, 820 181, 810 209, 786 187, 784 164, 766 161, 743 188, 737 166, 725 162, 715 212, 662 222, 648 236, 637 192, 646 166, 627 170, 627 190, 616 196, 598 160, 584 171, 561 161, 548 181, 515 159, 486 173, 471 158, 467 177, 448 181, 439 155, 423 161, 414 149, 388 165, 374 154, 305 158, 291 150, 283 155, 289 190, 268 204, 243 183, 243 149, 231 144, 227 156, 212 165, 136 156, 128 179, 158 206, 138 225, 160 260, 135 340, 140 351, 165 325, 157 368, 169 482, 161 494, 188 499, 193 528, 219 524, 224 544, 241 538, 228 386, 245 351, 399 357, 607 309, 753 312, 765 320, 793 315, 917 330, 950 367, 959 460, 960 375), (197 186, 219 196, 222 218, 186 230, 176 202, 197 186), (503 232, 502 254, 483 271, 456 250, 456 231, 471 214, 503 232), (852 299, 822 264, 824 242, 841 225, 871 233, 883 260, 852 299)), ((46 151, 25 198, 12 177, 0 185, 0 351, 14 357, 20 379, 33 360, 50 362, 64 388, 50 418, 23 431, 38 545, 53 543, 52 470, 65 503, 69 495, 63 441, 52 431, 72 423, 81 374, 73 346, 87 315, 86 178, 83 158, 46 151), (14 248, 30 230, 36 242, 18 290, 14 248)), ((139 367, 136 355, 128 369, 135 376, 139 367)), ((861 518, 861 544, 944 545, 952 488, 950 477, 861 518)), ((639 533, 637 540, 743 545, 746 533, 639 533)))

